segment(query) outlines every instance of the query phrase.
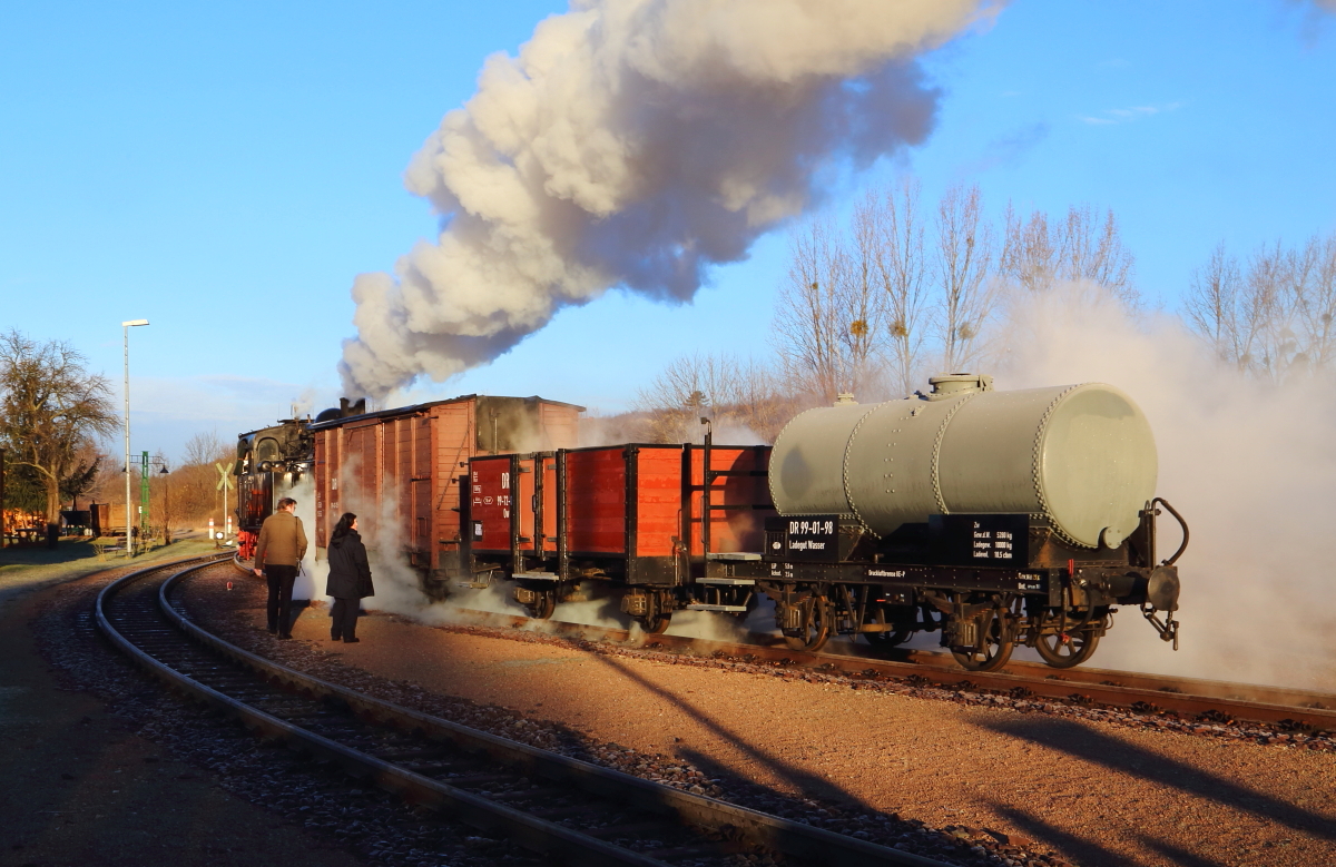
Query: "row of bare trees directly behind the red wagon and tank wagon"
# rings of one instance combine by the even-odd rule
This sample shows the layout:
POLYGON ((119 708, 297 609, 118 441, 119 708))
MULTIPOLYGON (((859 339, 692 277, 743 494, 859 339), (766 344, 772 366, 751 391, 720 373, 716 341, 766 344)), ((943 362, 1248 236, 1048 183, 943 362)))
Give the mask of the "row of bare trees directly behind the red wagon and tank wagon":
POLYGON ((790 235, 771 358, 684 355, 636 410, 656 441, 699 438, 683 419, 708 407, 716 426, 723 418, 770 442, 803 406, 903 397, 931 373, 977 366, 1009 291, 1090 281, 1136 306, 1133 265, 1112 211, 1051 218, 1009 206, 995 222, 978 184, 926 203, 906 178, 864 194, 843 224, 814 219, 790 235))

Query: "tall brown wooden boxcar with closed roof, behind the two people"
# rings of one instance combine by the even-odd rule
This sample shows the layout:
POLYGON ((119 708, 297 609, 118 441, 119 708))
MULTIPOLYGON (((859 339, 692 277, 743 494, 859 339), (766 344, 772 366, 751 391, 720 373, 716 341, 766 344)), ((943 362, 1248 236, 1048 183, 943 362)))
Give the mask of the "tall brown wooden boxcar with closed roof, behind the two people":
POLYGON ((429 578, 460 568, 460 482, 469 460, 578 445, 584 407, 538 397, 469 394, 317 422, 315 546, 354 512, 369 538, 429 578))

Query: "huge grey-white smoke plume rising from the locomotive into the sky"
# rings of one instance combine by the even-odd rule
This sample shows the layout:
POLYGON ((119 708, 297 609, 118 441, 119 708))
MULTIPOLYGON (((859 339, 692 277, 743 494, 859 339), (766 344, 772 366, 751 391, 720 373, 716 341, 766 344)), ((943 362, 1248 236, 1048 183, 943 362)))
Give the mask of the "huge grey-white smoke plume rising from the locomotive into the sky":
POLYGON ((407 188, 442 215, 353 285, 349 394, 444 381, 613 286, 687 301, 819 198, 823 168, 922 142, 915 63, 1001 0, 574 0, 493 55, 407 188))

